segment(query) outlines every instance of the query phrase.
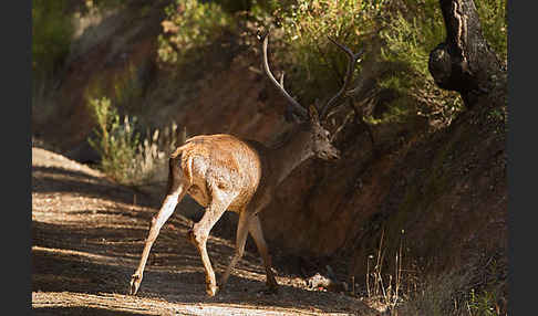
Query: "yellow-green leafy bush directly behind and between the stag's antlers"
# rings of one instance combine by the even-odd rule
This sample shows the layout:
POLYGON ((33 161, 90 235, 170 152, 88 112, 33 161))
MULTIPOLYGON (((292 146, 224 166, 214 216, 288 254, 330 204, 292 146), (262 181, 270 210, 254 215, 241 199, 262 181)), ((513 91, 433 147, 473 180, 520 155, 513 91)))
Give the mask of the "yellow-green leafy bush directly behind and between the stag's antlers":
MULTIPOLYGON (((358 52, 368 44, 386 1, 298 0, 273 2, 273 17, 283 31, 283 50, 276 59, 286 63, 293 91, 310 103, 341 85, 348 57, 327 36, 358 52)), ((275 45, 273 45, 275 46, 275 45)), ((359 64, 355 69, 360 71, 359 64)))

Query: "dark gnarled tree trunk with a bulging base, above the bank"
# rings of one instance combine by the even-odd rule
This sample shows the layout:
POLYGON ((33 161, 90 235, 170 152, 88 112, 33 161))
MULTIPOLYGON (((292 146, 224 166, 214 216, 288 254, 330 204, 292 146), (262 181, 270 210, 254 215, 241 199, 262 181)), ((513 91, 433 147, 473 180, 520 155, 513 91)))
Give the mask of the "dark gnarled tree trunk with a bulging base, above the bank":
POLYGON ((506 78, 506 70, 483 36, 473 0, 439 0, 439 4, 446 39, 430 53, 428 70, 441 88, 459 92, 470 108, 506 78))

